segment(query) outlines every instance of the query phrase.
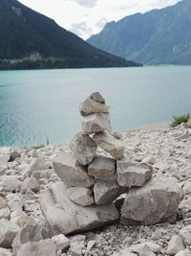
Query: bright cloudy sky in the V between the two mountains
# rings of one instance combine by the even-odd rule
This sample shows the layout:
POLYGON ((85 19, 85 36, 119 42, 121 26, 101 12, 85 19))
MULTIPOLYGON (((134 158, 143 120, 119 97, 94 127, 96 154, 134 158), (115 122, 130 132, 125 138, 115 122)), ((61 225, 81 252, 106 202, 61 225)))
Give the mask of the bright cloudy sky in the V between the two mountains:
POLYGON ((180 0, 19 0, 52 17, 60 26, 86 39, 97 34, 106 22, 136 12, 174 5, 180 0))

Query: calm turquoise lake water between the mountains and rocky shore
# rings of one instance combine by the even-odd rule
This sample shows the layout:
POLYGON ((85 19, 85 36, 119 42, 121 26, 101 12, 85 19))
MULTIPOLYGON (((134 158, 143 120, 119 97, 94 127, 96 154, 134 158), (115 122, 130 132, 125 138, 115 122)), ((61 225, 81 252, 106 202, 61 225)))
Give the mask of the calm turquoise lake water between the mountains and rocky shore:
POLYGON ((191 112, 191 67, 0 71, 0 146, 70 141, 94 91, 112 106, 114 130, 167 122, 191 112))

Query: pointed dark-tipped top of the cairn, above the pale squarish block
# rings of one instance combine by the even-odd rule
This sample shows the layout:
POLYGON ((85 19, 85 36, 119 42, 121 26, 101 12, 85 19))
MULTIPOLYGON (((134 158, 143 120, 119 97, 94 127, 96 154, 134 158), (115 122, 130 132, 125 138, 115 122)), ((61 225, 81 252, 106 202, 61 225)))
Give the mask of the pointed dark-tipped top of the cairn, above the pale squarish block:
POLYGON ((79 105, 82 116, 94 113, 109 113, 109 106, 105 105, 105 100, 100 94, 92 94, 83 103, 79 105), (104 102, 104 103, 103 103, 104 102))

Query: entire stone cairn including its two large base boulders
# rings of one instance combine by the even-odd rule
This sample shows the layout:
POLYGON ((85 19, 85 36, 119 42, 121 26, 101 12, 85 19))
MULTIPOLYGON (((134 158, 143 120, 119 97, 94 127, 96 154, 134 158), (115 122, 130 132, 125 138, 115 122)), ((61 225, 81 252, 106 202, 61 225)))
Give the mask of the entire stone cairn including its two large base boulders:
POLYGON ((111 132, 109 106, 100 93, 92 93, 79 109, 83 131, 72 139, 72 152, 53 159, 66 193, 63 183, 54 184, 40 198, 53 234, 119 218, 126 224, 154 224, 174 216, 182 199, 179 186, 166 177, 152 178, 149 164, 129 160, 119 134, 111 132))

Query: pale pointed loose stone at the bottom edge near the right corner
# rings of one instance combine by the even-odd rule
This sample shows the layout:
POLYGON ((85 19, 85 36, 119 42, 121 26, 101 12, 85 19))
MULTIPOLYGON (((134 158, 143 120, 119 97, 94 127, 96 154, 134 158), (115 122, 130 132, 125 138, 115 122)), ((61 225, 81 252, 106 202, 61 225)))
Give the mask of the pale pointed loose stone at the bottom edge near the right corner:
POLYGON ((180 250, 184 250, 184 249, 185 249, 185 246, 183 244, 182 238, 178 235, 175 235, 171 238, 166 252, 168 255, 175 255, 180 250))

